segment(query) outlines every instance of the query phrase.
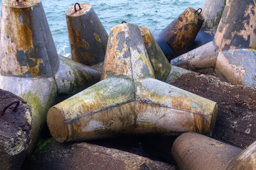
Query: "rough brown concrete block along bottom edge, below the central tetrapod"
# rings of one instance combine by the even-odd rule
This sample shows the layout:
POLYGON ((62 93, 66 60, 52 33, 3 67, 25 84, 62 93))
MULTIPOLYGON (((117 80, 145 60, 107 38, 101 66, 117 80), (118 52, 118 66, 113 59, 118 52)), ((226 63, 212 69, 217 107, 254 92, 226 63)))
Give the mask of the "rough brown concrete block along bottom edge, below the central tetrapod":
POLYGON ((137 154, 87 143, 63 144, 52 139, 43 145, 36 150, 30 169, 176 169, 137 154))

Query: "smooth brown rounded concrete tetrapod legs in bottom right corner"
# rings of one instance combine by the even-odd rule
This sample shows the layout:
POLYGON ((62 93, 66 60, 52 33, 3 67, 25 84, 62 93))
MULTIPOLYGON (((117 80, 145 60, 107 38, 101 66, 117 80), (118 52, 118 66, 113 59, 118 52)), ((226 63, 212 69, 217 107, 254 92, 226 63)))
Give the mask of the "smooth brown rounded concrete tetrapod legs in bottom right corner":
POLYGON ((195 132, 179 136, 171 149, 178 169, 256 169, 256 142, 242 149, 195 132))

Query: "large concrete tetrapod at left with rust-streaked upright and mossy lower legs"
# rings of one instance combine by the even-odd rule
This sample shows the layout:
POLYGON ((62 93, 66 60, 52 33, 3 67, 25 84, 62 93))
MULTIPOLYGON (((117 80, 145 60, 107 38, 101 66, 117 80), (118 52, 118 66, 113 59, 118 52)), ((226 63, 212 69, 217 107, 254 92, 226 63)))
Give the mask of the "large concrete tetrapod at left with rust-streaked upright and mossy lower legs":
POLYGON ((31 146, 58 96, 100 81, 100 72, 58 56, 41 0, 2 1, 0 47, 0 88, 21 96, 31 107, 31 146))

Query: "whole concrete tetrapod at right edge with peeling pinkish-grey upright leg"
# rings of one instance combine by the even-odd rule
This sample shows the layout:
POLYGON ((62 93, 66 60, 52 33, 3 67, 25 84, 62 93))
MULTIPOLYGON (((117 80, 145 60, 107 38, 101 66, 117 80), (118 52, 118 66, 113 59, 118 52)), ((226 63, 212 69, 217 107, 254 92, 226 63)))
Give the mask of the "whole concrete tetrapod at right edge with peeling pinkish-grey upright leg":
POLYGON ((232 84, 256 84, 255 1, 227 1, 213 42, 198 47, 171 64, 217 74, 232 84), (224 64, 225 63, 225 67, 224 64))

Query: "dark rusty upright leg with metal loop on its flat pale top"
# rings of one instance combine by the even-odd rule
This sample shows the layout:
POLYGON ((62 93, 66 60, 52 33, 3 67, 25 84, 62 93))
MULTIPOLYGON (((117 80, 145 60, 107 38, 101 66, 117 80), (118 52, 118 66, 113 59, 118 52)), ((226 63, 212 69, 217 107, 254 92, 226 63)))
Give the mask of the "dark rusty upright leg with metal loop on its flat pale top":
POLYGON ((75 4, 66 11, 72 59, 91 66, 103 62, 107 32, 90 4, 75 4))

